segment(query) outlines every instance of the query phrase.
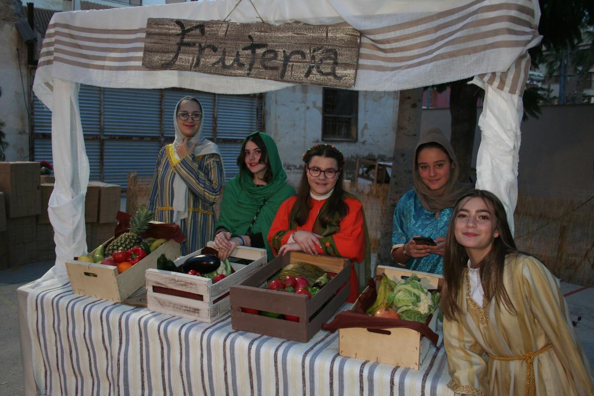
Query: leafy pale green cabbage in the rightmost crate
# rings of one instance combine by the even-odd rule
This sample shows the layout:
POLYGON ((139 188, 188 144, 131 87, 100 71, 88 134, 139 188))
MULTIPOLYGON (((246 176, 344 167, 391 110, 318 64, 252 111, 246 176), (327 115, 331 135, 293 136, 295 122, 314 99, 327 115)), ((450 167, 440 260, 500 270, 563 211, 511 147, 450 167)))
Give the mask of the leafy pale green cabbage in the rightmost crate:
POLYGON ((394 292, 388 296, 388 302, 398 311, 400 319, 423 323, 435 311, 439 301, 440 293, 429 293, 416 274, 397 283, 394 292))

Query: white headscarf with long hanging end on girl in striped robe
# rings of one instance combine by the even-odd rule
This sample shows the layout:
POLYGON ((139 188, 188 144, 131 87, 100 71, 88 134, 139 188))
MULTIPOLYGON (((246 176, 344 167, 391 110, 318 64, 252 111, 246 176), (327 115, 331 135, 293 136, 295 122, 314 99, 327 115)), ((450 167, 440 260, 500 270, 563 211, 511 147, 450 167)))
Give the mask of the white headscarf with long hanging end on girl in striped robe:
MULTIPOLYGON (((204 119, 206 118, 202 104, 195 97, 185 96, 182 97, 181 100, 179 100, 178 104, 175 105, 175 109, 173 110, 173 126, 175 127, 175 140, 173 141, 173 148, 175 150, 173 150, 173 152, 175 153, 176 159, 179 160, 177 148, 179 144, 181 144, 182 140, 185 138, 184 134, 182 134, 182 131, 180 131, 178 126, 178 108, 179 104, 181 104, 182 101, 186 99, 194 100, 195 102, 197 102, 198 105, 200 105, 200 110, 202 112, 202 119, 200 121, 200 128, 198 128, 198 132, 196 132, 196 134, 193 137, 189 138, 187 141, 188 145, 192 145, 194 144, 194 142, 198 142, 196 147, 194 147, 194 156, 200 157, 205 156, 206 154, 219 154, 220 157, 221 154, 219 151, 219 147, 214 142, 211 142, 210 140, 207 140, 206 138, 202 137, 202 127, 204 126, 204 119)), ((188 217, 188 185, 184 182, 184 179, 178 178, 177 175, 174 175, 173 222, 178 223, 179 220, 186 217, 188 217)))

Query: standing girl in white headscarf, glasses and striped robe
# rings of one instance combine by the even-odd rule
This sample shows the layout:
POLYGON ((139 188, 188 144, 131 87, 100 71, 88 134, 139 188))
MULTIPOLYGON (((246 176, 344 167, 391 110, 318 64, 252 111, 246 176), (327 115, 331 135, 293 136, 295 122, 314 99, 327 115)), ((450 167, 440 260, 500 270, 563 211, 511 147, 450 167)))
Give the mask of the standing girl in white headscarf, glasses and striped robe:
POLYGON ((181 254, 206 246, 214 235, 213 205, 224 182, 219 148, 201 136, 202 105, 191 96, 175 106, 175 141, 159 151, 149 209, 155 220, 177 223, 186 237, 181 254))

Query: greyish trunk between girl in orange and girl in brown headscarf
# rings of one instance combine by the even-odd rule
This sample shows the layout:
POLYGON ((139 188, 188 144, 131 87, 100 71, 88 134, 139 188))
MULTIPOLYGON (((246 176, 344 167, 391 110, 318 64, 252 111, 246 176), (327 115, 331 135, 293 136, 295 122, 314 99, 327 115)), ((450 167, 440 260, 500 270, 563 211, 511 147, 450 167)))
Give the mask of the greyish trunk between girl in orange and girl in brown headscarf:
POLYGON ((400 197, 412 187, 413 151, 421 132, 422 100, 423 88, 400 91, 387 213, 381 229, 377 264, 390 265, 393 262, 390 256, 392 218, 400 197))

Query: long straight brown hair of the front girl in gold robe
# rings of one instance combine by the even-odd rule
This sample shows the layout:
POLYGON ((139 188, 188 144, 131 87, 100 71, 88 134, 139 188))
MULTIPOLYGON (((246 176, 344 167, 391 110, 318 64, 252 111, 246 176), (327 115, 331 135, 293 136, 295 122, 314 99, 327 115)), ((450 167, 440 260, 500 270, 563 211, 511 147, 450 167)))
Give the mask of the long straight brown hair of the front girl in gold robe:
POLYGON ((464 271, 467 267, 468 255, 464 246, 456 240, 454 227, 460 208, 470 198, 481 198, 489 209, 492 208, 492 221, 494 231, 499 233, 494 237, 491 251, 485 256, 479 267, 481 284, 485 297, 488 301, 495 296, 495 300, 508 312, 515 313, 513 303, 503 283, 503 270, 505 266, 505 255, 519 253, 516 248, 513 236, 511 236, 510 225, 507 222, 505 208, 495 194, 485 190, 472 190, 463 195, 454 207, 453 214, 448 227, 445 240, 444 255, 444 287, 441 294, 441 309, 445 318, 457 321, 462 310, 460 309, 460 293, 463 290, 464 271))

